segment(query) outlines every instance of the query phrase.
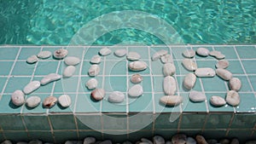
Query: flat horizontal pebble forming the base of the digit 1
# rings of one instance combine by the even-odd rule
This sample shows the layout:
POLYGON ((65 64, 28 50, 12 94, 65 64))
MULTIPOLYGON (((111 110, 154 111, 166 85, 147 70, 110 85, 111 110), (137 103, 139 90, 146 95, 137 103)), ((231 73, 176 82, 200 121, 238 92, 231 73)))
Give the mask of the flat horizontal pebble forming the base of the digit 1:
POLYGON ((160 98, 160 102, 168 106, 177 106, 183 101, 180 95, 165 95, 160 98))

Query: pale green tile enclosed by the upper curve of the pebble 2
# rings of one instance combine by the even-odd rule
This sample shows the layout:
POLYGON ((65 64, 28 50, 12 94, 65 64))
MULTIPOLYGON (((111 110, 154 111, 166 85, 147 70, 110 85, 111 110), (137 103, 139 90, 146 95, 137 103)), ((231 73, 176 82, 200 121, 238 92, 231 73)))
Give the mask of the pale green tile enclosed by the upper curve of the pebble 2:
POLYGON ((56 73, 57 67, 58 61, 38 61, 35 75, 48 75, 49 73, 56 73))

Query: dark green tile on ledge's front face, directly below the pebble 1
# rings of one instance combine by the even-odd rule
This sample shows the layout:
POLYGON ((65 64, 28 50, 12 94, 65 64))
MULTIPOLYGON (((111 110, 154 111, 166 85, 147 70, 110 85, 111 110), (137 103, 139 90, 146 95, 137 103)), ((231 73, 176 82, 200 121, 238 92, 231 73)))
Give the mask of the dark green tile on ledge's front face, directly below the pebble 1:
POLYGON ((171 113, 159 113, 156 114, 154 122, 154 130, 177 130, 179 117, 175 121, 170 121, 171 113))

